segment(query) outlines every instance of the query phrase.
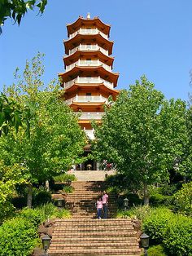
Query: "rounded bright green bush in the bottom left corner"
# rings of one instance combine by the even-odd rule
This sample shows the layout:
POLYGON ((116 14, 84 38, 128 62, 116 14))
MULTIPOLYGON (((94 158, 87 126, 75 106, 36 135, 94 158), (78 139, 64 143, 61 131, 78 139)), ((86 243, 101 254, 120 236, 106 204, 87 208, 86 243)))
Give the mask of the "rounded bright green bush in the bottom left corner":
POLYGON ((37 227, 27 219, 13 218, 0 227, 1 256, 28 256, 37 241, 37 227))

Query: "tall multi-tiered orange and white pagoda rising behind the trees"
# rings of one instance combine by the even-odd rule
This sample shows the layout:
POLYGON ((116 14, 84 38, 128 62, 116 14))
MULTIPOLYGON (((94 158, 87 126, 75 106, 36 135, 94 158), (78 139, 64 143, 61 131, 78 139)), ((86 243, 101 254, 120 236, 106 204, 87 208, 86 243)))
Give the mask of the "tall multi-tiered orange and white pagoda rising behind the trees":
MULTIPOLYGON (((81 113, 78 122, 89 139, 94 139, 91 120, 101 122, 108 97, 116 100, 119 94, 114 89, 119 73, 112 72, 111 26, 88 14, 86 18, 79 16, 67 29, 68 40, 63 41, 65 72, 59 73, 64 100, 75 113, 81 113)), ((94 163, 92 169, 98 166, 94 163)))

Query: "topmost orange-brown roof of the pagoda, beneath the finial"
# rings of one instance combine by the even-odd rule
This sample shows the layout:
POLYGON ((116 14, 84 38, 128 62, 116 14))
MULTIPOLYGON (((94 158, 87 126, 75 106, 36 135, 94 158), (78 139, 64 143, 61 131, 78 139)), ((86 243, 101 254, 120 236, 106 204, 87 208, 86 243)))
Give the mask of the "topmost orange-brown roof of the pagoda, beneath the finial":
POLYGON ((79 18, 72 24, 67 24, 68 37, 70 34, 76 32, 76 30, 80 29, 82 26, 85 25, 94 25, 99 30, 101 30, 101 32, 107 34, 109 37, 111 29, 110 24, 104 24, 103 21, 100 20, 98 17, 94 17, 93 19, 85 19, 82 16, 79 16, 79 18))

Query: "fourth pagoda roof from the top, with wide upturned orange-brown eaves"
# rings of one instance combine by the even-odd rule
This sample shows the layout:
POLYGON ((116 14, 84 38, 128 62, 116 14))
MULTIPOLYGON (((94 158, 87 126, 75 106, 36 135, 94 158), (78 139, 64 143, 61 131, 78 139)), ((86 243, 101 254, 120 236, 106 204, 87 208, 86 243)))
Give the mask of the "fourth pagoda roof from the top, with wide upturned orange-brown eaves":
MULTIPOLYGON (((62 77, 63 82, 68 82, 72 79, 74 79, 77 76, 82 76, 83 73, 94 73, 95 75, 100 75, 105 80, 109 82, 113 82, 114 87, 116 87, 117 80, 119 77, 119 73, 112 73, 110 71, 107 71, 107 69, 103 68, 102 65, 100 66, 77 66, 75 65, 74 68, 68 70, 65 73, 59 73, 59 77, 62 77)), ((63 86, 62 86, 63 87, 63 86)))

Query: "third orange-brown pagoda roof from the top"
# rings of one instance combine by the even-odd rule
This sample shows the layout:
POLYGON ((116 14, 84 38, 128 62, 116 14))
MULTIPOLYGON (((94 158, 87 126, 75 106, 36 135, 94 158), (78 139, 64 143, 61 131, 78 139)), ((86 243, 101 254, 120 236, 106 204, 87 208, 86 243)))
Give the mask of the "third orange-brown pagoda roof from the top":
POLYGON ((66 65, 70 65, 74 62, 76 62, 76 60, 79 60, 80 58, 83 58, 85 56, 85 58, 91 57, 91 58, 96 58, 98 57, 99 60, 103 60, 102 62, 104 64, 107 64, 109 66, 111 66, 112 68, 112 64, 114 61, 114 58, 111 56, 107 56, 105 54, 103 54, 103 52, 99 51, 99 50, 91 50, 91 51, 80 51, 77 50, 75 51, 72 55, 67 55, 63 57, 63 61, 65 64, 65 68, 66 65))

